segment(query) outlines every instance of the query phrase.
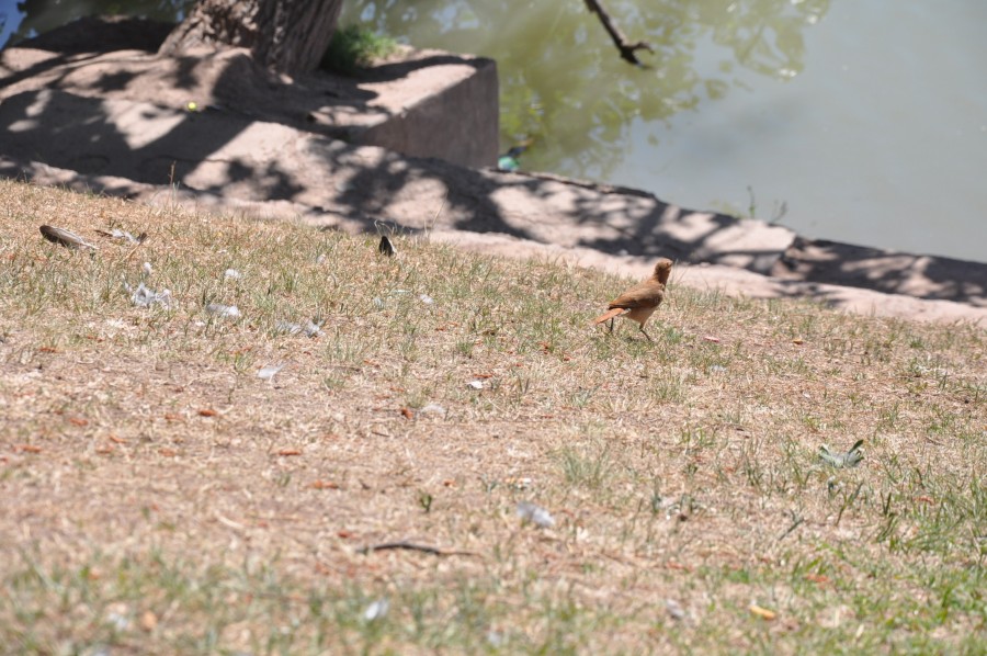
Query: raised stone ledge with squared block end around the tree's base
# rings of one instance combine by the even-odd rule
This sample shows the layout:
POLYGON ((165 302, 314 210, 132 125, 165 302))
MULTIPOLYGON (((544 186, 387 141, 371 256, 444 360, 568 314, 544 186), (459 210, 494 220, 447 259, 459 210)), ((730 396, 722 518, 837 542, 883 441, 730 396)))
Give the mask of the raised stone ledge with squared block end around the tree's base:
POLYGON ((404 47, 359 78, 316 71, 288 79, 258 68, 246 50, 155 53, 171 25, 82 19, 0 53, 0 100, 58 89, 149 102, 381 146, 461 166, 497 161, 499 99, 492 59, 404 47))

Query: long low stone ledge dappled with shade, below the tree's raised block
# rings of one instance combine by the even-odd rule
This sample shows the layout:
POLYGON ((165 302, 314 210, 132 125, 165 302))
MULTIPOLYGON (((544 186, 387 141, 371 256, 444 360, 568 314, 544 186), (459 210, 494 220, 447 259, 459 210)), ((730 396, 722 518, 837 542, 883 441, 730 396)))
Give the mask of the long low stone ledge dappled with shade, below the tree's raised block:
POLYGON ((767 272, 794 235, 608 185, 402 157, 280 123, 61 91, 0 105, 3 154, 82 173, 180 182, 226 199, 287 200, 409 228, 501 233, 561 247, 767 272), (58 138, 52 138, 58 135, 58 138), (441 210, 441 212, 440 212, 441 210))

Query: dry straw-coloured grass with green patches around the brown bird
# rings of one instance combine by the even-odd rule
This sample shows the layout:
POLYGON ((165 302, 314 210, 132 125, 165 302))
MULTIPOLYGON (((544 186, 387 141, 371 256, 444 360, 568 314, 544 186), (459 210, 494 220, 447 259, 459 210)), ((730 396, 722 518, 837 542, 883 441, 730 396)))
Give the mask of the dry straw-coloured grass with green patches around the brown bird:
POLYGON ((672 286, 648 343, 592 271, 0 197, 11 653, 985 648, 983 328, 672 286))

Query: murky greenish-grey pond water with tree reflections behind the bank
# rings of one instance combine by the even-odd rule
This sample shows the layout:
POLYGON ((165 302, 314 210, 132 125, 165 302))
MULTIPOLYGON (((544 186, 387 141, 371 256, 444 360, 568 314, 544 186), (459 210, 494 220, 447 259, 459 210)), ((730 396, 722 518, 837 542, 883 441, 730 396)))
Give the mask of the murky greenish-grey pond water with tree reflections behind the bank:
MULTIPOLYGON (((524 169, 987 261, 987 2, 603 3, 655 47, 647 67, 619 58, 582 0, 352 0, 342 21, 497 59, 503 147, 530 143, 524 169)), ((26 24, 15 4, 0 0, 0 43, 80 11, 190 3, 29 0, 26 24)))

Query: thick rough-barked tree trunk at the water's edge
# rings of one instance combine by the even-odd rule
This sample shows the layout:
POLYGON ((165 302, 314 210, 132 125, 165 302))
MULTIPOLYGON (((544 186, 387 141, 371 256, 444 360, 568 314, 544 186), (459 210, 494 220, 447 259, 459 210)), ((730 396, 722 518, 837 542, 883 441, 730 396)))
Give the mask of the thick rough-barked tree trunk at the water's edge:
POLYGON ((249 48, 261 66, 288 75, 314 70, 332 33, 342 0, 200 0, 175 27, 161 55, 195 46, 249 48))

